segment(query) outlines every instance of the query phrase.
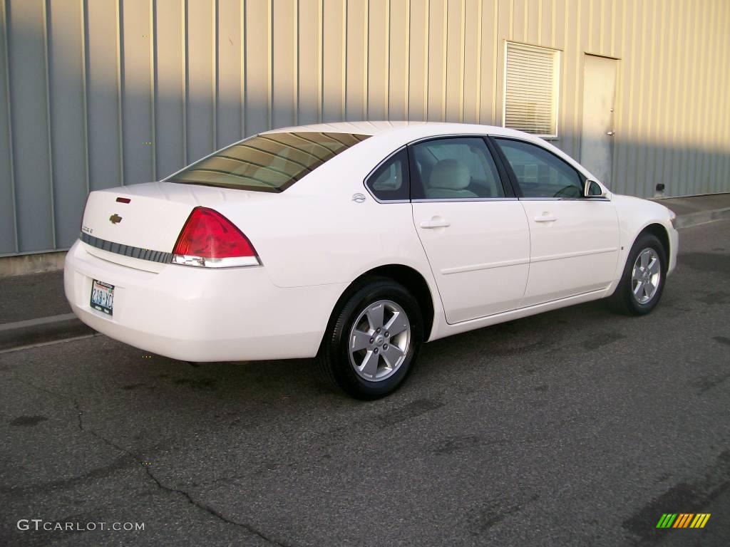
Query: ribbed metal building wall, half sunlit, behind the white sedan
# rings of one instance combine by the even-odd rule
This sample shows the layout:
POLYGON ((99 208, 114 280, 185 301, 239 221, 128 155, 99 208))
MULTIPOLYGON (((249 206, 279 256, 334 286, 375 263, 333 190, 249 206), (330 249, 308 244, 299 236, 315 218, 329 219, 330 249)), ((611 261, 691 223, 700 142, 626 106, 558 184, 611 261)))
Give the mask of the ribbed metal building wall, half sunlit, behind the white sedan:
POLYGON ((504 40, 620 59, 613 189, 730 190, 727 0, 0 0, 0 255, 64 249, 89 190, 268 128, 502 124, 504 40))

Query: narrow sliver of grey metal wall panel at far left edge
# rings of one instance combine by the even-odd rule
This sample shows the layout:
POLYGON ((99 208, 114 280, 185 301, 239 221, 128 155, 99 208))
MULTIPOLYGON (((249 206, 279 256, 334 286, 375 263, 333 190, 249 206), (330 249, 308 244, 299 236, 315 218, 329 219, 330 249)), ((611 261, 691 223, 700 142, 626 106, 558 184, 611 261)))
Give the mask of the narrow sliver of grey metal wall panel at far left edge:
POLYGON ((5 2, 0 4, 0 255, 18 251, 15 233, 15 176, 9 117, 5 2))

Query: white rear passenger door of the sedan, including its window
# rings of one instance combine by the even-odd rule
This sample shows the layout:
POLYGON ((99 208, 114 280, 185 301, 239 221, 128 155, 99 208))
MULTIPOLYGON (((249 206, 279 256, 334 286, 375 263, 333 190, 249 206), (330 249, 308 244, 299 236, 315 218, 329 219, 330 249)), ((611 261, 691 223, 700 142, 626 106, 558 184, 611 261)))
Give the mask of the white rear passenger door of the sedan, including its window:
POLYGON ((517 308, 527 284, 527 219, 490 147, 483 136, 408 147, 413 222, 451 324, 517 308))

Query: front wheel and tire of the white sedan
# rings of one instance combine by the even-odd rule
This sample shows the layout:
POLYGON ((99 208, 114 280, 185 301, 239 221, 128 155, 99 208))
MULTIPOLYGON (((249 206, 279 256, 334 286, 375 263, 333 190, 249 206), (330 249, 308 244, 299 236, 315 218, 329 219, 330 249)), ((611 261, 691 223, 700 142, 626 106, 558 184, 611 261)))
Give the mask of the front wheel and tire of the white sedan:
POLYGON ((621 282, 610 297, 611 307, 627 315, 648 314, 661 299, 667 266, 661 241, 651 233, 640 234, 626 259, 621 282), (653 260, 658 265, 650 266, 653 260))

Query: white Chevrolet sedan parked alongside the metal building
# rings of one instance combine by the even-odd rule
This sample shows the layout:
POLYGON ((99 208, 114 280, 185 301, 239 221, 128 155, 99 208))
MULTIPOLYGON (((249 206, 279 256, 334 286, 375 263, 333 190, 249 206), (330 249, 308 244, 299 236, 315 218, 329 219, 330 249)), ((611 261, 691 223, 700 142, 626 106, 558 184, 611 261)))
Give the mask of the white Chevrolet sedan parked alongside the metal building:
POLYGON ((675 268, 674 218, 519 131, 310 125, 92 192, 64 284, 83 322, 126 344, 316 357, 374 398, 425 341, 607 297, 647 314, 675 268))

